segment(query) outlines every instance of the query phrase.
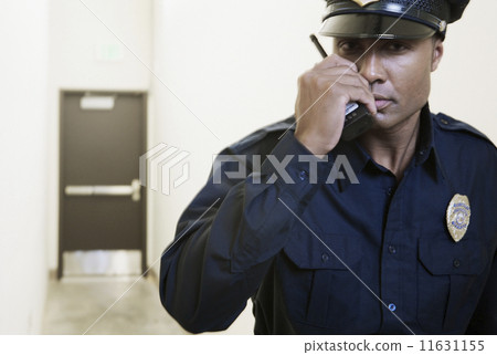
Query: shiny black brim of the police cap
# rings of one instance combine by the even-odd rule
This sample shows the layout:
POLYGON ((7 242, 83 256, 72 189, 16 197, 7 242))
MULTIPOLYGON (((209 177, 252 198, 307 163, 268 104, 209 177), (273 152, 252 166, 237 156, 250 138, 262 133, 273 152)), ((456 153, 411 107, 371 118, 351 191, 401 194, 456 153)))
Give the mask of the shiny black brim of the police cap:
POLYGON ((406 19, 377 13, 343 13, 322 22, 319 34, 338 38, 425 39, 435 34, 432 28, 406 19))

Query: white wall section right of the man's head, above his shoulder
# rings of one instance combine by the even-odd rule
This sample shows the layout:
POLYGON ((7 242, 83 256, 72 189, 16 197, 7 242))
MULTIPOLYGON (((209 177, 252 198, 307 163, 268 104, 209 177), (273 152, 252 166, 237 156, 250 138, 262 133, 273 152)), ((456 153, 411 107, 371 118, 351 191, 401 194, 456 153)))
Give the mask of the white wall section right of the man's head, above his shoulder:
POLYGON ((431 108, 465 121, 497 144, 497 1, 470 1, 448 25, 445 54, 433 75, 431 108))

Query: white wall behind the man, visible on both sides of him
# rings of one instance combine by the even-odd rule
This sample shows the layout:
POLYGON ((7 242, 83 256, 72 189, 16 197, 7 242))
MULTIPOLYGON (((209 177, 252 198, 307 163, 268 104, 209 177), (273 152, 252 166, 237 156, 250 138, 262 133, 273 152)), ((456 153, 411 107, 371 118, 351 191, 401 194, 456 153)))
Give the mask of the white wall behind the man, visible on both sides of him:
MULTIPOLYGON (((297 76, 320 60, 308 35, 318 31, 324 10, 319 0, 154 1, 154 71, 163 84, 152 80, 149 146, 163 142, 190 152, 191 178, 169 196, 149 191, 150 260, 172 240, 180 213, 205 182, 212 154, 293 113, 297 76)), ((450 27, 431 98, 433 111, 474 124, 494 142, 496 11, 495 2, 472 1, 450 27)), ((252 332, 247 312, 232 332, 252 332)))

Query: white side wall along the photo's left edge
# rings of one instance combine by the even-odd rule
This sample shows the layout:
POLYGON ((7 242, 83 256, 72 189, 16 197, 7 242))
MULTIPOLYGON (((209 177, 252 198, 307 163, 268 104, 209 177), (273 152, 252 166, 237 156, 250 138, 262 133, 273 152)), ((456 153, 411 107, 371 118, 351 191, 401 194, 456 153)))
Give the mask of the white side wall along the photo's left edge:
POLYGON ((46 268, 46 1, 0 4, 0 334, 35 334, 46 268))

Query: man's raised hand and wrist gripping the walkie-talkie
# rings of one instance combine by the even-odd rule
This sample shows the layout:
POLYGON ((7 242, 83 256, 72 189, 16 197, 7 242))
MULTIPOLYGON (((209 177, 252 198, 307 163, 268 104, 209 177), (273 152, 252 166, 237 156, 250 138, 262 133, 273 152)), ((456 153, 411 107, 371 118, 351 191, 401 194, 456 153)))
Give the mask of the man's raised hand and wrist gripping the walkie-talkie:
POLYGON ((331 54, 298 79, 295 137, 314 155, 326 155, 340 139, 349 102, 377 114, 369 83, 356 64, 331 54))

